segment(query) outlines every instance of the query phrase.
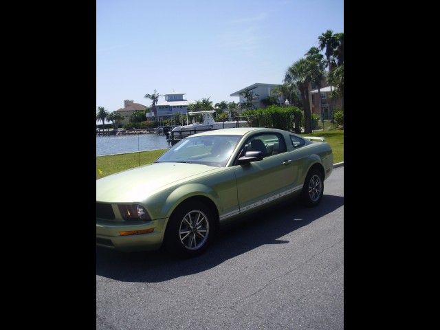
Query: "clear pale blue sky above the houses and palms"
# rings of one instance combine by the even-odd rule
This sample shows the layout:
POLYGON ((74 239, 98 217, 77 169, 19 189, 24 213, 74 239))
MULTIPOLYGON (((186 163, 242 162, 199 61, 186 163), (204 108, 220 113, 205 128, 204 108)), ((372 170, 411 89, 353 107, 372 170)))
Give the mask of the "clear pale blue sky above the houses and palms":
POLYGON ((97 0, 95 111, 149 107, 155 89, 239 102, 230 94, 283 83, 327 30, 344 32, 343 0, 97 0))

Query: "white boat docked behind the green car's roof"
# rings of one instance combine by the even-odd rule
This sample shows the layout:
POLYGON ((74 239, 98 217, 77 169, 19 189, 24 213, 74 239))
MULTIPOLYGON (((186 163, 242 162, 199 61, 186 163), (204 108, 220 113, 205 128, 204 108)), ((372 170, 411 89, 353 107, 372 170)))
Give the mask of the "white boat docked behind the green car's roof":
POLYGON ((199 131, 210 131, 212 129, 230 129, 233 127, 246 127, 249 126, 249 123, 246 120, 228 120, 224 122, 215 122, 212 117, 212 113, 215 110, 208 111, 192 111, 188 112, 188 115, 202 115, 203 122, 195 122, 192 120, 192 124, 177 126, 173 130, 171 130, 172 135, 168 135, 171 139, 171 136, 177 139, 181 139, 182 137, 186 137, 191 134, 199 133, 199 131))

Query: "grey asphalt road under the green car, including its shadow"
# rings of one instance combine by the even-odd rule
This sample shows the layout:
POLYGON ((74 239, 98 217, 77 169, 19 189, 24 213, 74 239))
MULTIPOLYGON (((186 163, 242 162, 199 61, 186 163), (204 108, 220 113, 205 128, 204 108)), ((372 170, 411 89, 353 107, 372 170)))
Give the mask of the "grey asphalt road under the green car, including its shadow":
POLYGON ((96 329, 344 329, 344 166, 195 259, 96 250, 96 329))

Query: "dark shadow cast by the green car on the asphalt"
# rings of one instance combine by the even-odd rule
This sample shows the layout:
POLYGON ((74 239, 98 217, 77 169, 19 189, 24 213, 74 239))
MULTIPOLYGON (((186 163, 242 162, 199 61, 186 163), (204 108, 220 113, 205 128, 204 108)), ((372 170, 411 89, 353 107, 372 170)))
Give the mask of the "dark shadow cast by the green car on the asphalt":
POLYGON ((278 238, 344 205, 344 197, 325 195, 319 206, 303 208, 298 201, 274 208, 222 230, 201 256, 177 259, 162 250, 117 252, 96 247, 96 275, 116 281, 156 283, 203 272, 265 244, 286 244, 278 238))

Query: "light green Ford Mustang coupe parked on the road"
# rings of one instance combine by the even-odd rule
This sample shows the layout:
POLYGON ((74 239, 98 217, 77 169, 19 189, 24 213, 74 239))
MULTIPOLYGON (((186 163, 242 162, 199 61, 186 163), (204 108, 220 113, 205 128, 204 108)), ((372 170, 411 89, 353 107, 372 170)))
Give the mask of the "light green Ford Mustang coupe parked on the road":
POLYGON ((259 127, 190 135, 153 164, 96 180, 96 245, 197 256, 221 226, 274 203, 318 205, 332 170, 322 137, 259 127))

